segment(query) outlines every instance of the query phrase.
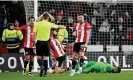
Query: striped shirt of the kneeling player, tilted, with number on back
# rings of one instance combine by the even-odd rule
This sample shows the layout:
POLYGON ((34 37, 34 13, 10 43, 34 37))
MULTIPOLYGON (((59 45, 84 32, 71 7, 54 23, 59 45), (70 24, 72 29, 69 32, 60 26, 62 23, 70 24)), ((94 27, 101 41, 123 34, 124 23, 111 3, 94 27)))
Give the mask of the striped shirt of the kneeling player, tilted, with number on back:
POLYGON ((65 54, 63 47, 58 39, 51 38, 50 48, 52 49, 55 58, 61 57, 65 54))

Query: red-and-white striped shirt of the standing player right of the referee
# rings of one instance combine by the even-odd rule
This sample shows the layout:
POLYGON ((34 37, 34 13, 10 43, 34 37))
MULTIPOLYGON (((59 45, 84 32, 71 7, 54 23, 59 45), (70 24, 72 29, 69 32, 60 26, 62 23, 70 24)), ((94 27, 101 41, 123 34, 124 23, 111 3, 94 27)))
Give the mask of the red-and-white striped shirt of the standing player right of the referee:
POLYGON ((87 33, 86 31, 90 29, 88 22, 82 24, 76 23, 74 25, 74 30, 76 31, 76 41, 75 42, 86 42, 87 33))

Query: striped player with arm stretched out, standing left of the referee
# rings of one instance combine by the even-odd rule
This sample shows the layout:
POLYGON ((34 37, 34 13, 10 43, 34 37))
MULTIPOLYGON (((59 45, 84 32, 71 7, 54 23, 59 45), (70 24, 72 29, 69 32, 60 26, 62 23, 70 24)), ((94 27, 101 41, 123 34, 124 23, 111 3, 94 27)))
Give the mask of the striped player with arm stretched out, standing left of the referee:
POLYGON ((24 56, 24 69, 23 74, 26 74, 26 67, 29 63, 29 75, 32 75, 31 70, 33 68, 33 61, 34 61, 34 43, 32 41, 33 37, 33 27, 34 27, 35 18, 29 17, 28 24, 22 27, 16 27, 16 30, 24 30, 25 38, 24 38, 24 49, 25 49, 25 56, 24 56))

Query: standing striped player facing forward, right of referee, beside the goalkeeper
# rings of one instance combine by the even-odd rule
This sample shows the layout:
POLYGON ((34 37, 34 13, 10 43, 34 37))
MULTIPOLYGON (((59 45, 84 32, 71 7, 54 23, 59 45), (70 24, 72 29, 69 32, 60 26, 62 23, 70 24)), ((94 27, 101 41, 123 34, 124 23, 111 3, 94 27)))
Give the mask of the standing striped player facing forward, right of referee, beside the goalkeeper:
POLYGON ((75 73, 80 74, 82 72, 82 66, 84 63, 84 54, 87 49, 87 45, 89 42, 89 33, 90 33, 90 25, 88 22, 84 21, 83 15, 77 16, 77 21, 74 25, 75 32, 73 35, 76 37, 76 41, 73 47, 73 56, 72 56, 72 70, 70 76, 73 76, 75 73), (79 56, 79 58, 78 58, 79 56), (75 72, 75 65, 77 60, 80 62, 80 68, 77 72, 75 72))

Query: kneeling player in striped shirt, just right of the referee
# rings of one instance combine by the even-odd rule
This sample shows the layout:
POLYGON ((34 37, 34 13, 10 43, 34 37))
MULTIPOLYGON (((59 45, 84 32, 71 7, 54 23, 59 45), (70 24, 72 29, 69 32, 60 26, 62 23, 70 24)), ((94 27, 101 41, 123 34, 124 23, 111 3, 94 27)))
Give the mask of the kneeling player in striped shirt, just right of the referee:
POLYGON ((63 73, 65 71, 68 70, 68 68, 63 69, 62 68, 62 64, 65 61, 65 52, 63 50, 63 47, 60 43, 60 41, 57 39, 57 32, 56 30, 54 30, 52 32, 53 37, 51 37, 51 41, 50 41, 50 48, 52 50, 52 59, 56 59, 56 65, 55 65, 55 69, 53 70, 52 73, 63 73))

